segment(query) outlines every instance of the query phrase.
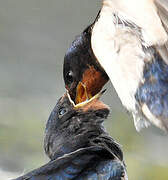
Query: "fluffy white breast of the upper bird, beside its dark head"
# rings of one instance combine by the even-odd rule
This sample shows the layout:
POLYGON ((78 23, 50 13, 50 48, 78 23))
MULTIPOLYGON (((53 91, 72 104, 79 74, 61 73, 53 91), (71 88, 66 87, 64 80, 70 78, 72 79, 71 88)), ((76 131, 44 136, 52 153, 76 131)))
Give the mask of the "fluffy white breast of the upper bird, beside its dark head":
POLYGON ((92 49, 122 104, 129 111, 136 111, 135 93, 143 82, 144 61, 149 58, 137 32, 115 21, 114 14, 102 10, 92 30, 92 49))

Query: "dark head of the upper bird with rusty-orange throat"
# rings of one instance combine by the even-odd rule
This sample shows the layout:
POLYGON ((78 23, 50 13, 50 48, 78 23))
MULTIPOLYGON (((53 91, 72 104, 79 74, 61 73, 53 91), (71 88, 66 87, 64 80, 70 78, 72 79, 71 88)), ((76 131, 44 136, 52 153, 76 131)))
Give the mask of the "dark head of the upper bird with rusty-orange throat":
POLYGON ((91 26, 68 49, 63 66, 65 87, 75 104, 92 98, 108 81, 91 48, 91 26))

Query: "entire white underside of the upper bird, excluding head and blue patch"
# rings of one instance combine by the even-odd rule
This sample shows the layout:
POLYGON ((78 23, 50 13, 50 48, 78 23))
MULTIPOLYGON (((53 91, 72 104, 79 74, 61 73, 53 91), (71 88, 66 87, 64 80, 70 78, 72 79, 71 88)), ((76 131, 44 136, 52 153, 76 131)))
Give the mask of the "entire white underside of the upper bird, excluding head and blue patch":
MULTIPOLYGON (((152 100, 153 95, 148 93, 155 111, 161 109, 157 109, 156 103, 164 106, 159 116, 151 110, 147 102, 142 104, 136 99, 139 88, 142 89, 140 86, 146 83, 146 65, 153 63, 155 66, 158 56, 164 63, 157 48, 160 46, 161 49, 167 38, 152 0, 104 0, 99 17, 92 27, 91 45, 94 55, 108 74, 122 104, 132 113, 138 131, 142 127, 148 127, 150 123, 168 130, 168 116, 165 112, 168 111, 167 99, 158 96, 160 100, 152 100), (166 105, 162 105, 163 103, 166 105)), ((168 68, 166 64, 164 66, 168 68)), ((165 68, 162 68, 159 72, 167 74, 165 71, 165 68)), ((159 77, 155 79, 159 81, 159 77)), ((167 85, 166 79, 164 83, 167 85)), ((160 89, 162 84, 156 84, 160 89)), ((152 85, 148 86, 151 87, 152 85)), ((164 90, 168 93, 168 88, 164 90)), ((156 88, 154 91, 157 91, 156 88)))

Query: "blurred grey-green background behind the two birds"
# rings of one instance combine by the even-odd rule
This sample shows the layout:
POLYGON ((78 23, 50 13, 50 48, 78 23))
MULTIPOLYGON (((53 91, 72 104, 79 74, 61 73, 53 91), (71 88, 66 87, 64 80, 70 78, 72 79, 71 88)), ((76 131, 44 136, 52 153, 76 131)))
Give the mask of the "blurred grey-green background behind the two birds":
MULTIPOLYGON (((46 120, 64 93, 64 54, 93 22, 100 0, 0 0, 0 179, 48 161, 46 120)), ((123 145, 130 180, 168 179, 168 135, 151 127, 137 133, 111 85, 110 134, 123 145)))

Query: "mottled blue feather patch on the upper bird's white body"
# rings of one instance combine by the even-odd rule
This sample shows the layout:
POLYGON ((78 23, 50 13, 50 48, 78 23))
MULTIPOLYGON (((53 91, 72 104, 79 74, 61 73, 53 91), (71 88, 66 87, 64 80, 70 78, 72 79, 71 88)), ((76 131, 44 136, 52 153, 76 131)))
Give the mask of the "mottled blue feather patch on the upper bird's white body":
POLYGON ((146 104, 168 130, 168 65, 155 53, 153 61, 146 63, 143 75, 144 83, 138 88, 136 99, 146 104))

